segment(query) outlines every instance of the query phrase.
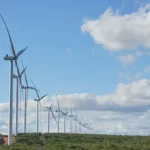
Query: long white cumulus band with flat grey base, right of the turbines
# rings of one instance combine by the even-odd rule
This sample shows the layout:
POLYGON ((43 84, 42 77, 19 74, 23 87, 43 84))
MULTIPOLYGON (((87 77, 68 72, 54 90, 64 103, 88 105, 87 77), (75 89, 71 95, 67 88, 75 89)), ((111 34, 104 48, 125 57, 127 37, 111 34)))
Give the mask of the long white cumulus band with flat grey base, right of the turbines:
POLYGON ((103 96, 75 93, 58 95, 58 99, 62 109, 69 109, 71 105, 78 110, 145 111, 150 107, 150 80, 119 83, 113 93, 103 96))

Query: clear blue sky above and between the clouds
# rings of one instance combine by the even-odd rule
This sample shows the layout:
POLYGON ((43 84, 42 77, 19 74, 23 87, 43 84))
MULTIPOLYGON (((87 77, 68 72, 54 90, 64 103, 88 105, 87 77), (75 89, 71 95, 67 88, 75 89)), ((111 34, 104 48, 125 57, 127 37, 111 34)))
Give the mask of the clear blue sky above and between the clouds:
MULTIPOLYGON (((108 7, 122 8, 123 1, 3 1, 0 6, 10 29, 16 51, 29 46, 22 56, 32 79, 41 93, 87 92, 109 93, 126 69, 88 34, 81 32, 85 19, 95 19, 108 7), (71 49, 71 52, 68 51, 71 49)), ((134 1, 127 1, 121 13, 136 10, 134 1)), ((1 58, 10 53, 9 41, 1 21, 1 58)), ((147 60, 144 60, 144 63, 147 60)), ((1 60, 1 100, 8 99, 9 63, 1 60), (7 69, 7 72, 3 71, 7 69)), ((138 63, 138 62, 137 62, 138 63)), ((148 61, 146 62, 148 63, 148 61)), ((141 60, 136 70, 143 67, 141 60)), ((21 68, 21 67, 20 67, 21 68)), ((127 70, 136 72, 135 66, 127 70)), ((140 70, 140 69, 139 69, 140 70)))

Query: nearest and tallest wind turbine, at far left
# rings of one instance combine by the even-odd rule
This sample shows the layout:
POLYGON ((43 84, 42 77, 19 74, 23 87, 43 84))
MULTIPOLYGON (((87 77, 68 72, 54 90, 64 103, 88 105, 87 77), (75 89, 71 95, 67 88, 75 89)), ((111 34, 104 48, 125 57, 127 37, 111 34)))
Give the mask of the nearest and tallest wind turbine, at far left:
MULTIPOLYGON (((19 51, 17 54, 15 53, 15 48, 11 39, 11 35, 9 32, 9 29, 7 27, 7 24, 3 18, 3 16, 0 14, 0 17, 5 25, 5 28, 7 30, 7 34, 9 37, 9 41, 11 44, 11 52, 13 56, 8 56, 8 54, 4 57, 4 60, 8 60, 10 61, 10 90, 9 90, 9 123, 8 123, 8 145, 12 144, 12 126, 13 126, 13 61, 15 61, 15 65, 17 67, 17 74, 18 76, 20 75, 19 69, 18 69, 18 63, 17 63, 17 59, 19 58, 19 56, 27 49, 23 49, 21 51, 19 51)), ((20 78, 19 78, 20 79, 20 78)), ((22 85, 21 79, 19 80, 20 84, 22 85)))

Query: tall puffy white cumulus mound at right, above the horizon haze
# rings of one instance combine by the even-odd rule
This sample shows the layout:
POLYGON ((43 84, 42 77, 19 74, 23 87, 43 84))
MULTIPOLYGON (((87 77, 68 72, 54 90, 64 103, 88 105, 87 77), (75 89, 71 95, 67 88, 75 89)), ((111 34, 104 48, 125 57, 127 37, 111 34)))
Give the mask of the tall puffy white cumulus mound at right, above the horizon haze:
MULTIPOLYGON (((109 109, 126 108, 128 111, 147 110, 150 106, 150 80, 142 79, 133 81, 130 84, 120 83, 113 94, 106 96, 98 96, 99 104, 109 109), (107 103, 107 106, 105 104, 107 103), (119 108, 120 107, 120 108, 119 108)), ((120 110, 120 111, 121 111, 120 110)))

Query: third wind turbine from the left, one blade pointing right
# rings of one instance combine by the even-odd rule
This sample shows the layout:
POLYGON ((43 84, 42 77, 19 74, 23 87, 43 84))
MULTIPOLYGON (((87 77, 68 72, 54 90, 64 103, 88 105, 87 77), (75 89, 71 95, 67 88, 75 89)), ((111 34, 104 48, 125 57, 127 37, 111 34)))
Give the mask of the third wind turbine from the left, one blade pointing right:
MULTIPOLYGON (((22 62, 22 61, 21 61, 22 62)), ((22 66, 24 68, 23 62, 22 62, 22 66)), ((26 86, 22 86, 22 89, 24 89, 24 133, 26 133, 26 129, 27 129, 27 101, 28 101, 28 90, 34 90, 34 91, 38 91, 36 88, 31 87, 28 85, 28 80, 27 80, 27 76, 26 76, 26 72, 24 72, 24 77, 25 77, 25 82, 26 82, 26 86)))

